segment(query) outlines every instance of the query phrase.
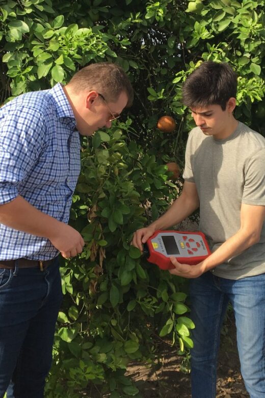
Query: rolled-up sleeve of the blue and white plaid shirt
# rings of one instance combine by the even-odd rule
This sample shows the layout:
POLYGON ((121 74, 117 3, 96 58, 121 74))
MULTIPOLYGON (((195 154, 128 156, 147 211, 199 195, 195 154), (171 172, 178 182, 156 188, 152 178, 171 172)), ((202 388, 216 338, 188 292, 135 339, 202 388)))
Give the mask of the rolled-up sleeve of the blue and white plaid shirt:
POLYGON ((39 113, 23 107, 0 114, 0 205, 18 196, 18 184, 30 173, 43 142, 39 113))

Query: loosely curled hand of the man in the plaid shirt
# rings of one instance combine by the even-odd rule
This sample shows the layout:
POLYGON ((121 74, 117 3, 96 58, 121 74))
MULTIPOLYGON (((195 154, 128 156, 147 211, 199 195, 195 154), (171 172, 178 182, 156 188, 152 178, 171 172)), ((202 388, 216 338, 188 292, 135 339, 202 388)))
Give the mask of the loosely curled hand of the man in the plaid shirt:
POLYGON ((59 222, 58 228, 52 231, 49 240, 64 258, 81 253, 85 244, 80 233, 64 222, 59 222))

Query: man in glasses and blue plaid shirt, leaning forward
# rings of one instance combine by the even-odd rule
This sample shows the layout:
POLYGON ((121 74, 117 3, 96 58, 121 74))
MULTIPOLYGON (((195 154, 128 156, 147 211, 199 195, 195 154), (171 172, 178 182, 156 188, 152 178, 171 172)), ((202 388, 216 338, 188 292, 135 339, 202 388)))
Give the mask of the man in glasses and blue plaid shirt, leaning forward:
POLYGON ((0 398, 43 397, 62 301, 58 255, 84 246, 67 225, 78 133, 110 128, 132 101, 124 71, 98 63, 0 110, 0 398))

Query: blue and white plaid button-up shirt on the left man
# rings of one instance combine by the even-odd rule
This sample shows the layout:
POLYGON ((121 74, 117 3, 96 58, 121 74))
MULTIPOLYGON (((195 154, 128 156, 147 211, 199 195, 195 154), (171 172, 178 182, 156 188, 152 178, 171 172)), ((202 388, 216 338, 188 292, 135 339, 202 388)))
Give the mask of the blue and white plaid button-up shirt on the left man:
MULTIPOLYGON (((22 94, 0 109, 0 205, 21 195, 67 223, 80 173, 80 137, 60 84, 22 94)), ((0 224, 0 260, 49 260, 58 250, 46 238, 0 224)))

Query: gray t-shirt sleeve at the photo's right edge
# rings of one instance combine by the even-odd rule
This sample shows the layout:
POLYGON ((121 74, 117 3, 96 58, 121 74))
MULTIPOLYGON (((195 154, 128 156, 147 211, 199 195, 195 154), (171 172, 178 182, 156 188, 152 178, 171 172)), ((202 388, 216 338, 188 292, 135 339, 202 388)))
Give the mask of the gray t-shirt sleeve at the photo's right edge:
POLYGON ((265 148, 256 152, 246 162, 242 203, 265 206, 265 148))

